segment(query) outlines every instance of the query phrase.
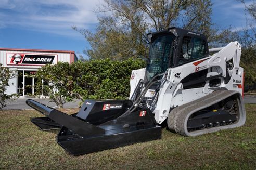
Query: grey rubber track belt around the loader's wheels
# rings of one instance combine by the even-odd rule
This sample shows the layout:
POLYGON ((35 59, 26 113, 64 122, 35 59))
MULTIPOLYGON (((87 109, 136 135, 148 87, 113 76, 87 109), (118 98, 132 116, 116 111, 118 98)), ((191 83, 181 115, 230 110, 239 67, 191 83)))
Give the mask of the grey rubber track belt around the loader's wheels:
POLYGON ((242 99, 240 93, 238 91, 230 91, 230 90, 217 90, 213 93, 204 96, 198 100, 183 104, 182 106, 174 108, 168 116, 168 127, 170 130, 175 131, 178 134, 183 136, 198 136, 206 133, 216 132, 222 129, 239 127, 245 124, 246 121, 246 111, 244 106, 244 100, 242 99), (239 112, 239 120, 231 125, 213 127, 209 129, 203 130, 195 130, 192 132, 188 132, 187 130, 187 121, 191 114, 212 106, 213 104, 220 102, 230 96, 237 95, 238 101, 238 112, 239 112))

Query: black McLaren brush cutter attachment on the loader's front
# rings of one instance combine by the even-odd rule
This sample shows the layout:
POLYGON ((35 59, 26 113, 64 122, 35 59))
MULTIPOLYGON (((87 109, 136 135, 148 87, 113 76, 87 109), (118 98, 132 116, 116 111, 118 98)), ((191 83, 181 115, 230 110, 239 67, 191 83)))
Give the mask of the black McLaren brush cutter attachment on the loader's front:
POLYGON ((72 115, 31 99, 27 104, 46 115, 31 119, 40 129, 61 127, 57 142, 72 155, 161 138, 161 127, 157 126, 150 109, 123 115, 132 106, 131 100, 86 100, 81 110, 72 115))

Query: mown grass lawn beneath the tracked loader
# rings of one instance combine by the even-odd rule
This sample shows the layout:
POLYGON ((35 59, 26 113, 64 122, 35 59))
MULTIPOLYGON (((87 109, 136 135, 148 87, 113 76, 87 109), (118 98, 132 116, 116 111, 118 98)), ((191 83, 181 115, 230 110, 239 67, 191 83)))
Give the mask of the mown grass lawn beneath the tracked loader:
MULTIPOLYGON (((72 113, 77 109, 66 109, 72 113)), ((30 122, 34 110, 0 111, 0 169, 256 169, 256 104, 242 127, 198 137, 162 129, 162 139, 81 156, 30 122)))

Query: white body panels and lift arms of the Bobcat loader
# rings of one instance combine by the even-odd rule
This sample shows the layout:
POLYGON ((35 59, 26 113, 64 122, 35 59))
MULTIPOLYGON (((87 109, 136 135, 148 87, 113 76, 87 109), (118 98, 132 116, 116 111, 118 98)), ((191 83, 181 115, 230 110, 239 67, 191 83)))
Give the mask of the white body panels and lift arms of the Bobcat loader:
MULTIPOLYGON (((203 96, 211 94, 218 89, 227 89, 238 91, 243 95, 244 89, 244 69, 239 67, 241 57, 241 45, 238 42, 231 42, 223 48, 209 49, 210 52, 219 51, 212 56, 202 58, 182 66, 167 69, 167 81, 163 82, 159 89, 158 100, 155 109, 155 120, 161 124, 167 119, 171 108, 175 108, 188 102, 197 100, 203 96), (226 62, 231 61, 233 67, 231 70, 226 68, 226 62), (210 86, 209 80, 204 87, 184 89, 181 82, 190 74, 201 70, 208 70, 207 77, 221 75, 220 84, 214 87, 210 86), (228 71, 227 71, 228 70, 228 71), (229 81, 225 83, 226 77, 229 81)), ((140 79, 145 79, 146 69, 133 70, 131 75, 130 99, 140 79)), ((155 90, 148 89, 145 97, 152 98, 155 90)))

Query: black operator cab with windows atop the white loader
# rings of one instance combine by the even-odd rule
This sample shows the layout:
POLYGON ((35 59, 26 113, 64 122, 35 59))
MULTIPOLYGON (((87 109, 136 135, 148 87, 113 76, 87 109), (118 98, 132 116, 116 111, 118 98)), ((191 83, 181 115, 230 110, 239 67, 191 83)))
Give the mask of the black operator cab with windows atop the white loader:
POLYGON ((172 27, 149 33, 147 38, 150 42, 145 75, 147 81, 168 68, 209 56, 207 38, 200 33, 172 27))

